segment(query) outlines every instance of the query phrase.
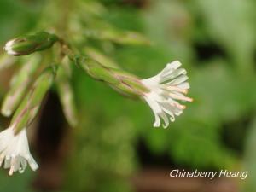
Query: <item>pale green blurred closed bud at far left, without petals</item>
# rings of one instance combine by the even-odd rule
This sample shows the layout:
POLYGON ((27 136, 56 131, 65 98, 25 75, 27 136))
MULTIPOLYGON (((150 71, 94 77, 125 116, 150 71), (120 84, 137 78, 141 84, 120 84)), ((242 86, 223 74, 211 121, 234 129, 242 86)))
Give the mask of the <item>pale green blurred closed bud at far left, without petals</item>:
POLYGON ((30 58, 30 61, 26 60, 26 63, 20 68, 20 71, 13 76, 10 89, 3 99, 1 113, 4 116, 10 116, 20 103, 30 83, 32 75, 38 69, 40 61, 41 57, 39 55, 33 55, 33 57, 30 58))

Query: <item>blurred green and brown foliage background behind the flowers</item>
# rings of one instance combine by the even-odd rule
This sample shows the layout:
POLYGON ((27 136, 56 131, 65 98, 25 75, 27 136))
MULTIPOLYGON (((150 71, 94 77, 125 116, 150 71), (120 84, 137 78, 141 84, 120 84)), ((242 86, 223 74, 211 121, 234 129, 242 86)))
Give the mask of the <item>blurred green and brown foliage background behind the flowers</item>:
MULTIPOLYGON (((39 28, 39 21, 43 26, 49 22, 50 27, 55 18, 42 18, 42 13, 52 2, 61 0, 1 0, 2 46, 10 38, 39 28)), ((189 96, 195 102, 187 104, 168 129, 154 129, 154 115, 147 104, 119 96, 106 84, 74 69, 79 127, 67 126, 53 90, 32 137, 32 154, 40 169, 27 169, 14 177, 1 171, 0 191, 255 191, 256 2, 102 0, 93 9, 85 8, 86 4, 96 1, 80 2, 84 3, 80 20, 88 19, 90 10, 104 22, 141 32, 152 42, 135 46, 87 41, 90 47, 100 47, 109 59, 142 78, 158 73, 167 62, 182 61, 189 73, 189 96), (195 185, 184 180, 177 188, 169 177, 173 168, 244 169, 248 177, 231 183, 217 179, 208 189, 186 189, 195 185), (162 188, 150 189, 150 178, 152 183, 159 179, 154 176, 170 186, 163 182, 162 188)), ((61 9, 49 12, 58 15, 61 9)), ((77 29, 76 23, 71 25, 77 29)), ((80 33, 70 38, 79 41, 83 37, 80 33)), ((12 71, 0 72, 2 98, 8 73, 12 71)))

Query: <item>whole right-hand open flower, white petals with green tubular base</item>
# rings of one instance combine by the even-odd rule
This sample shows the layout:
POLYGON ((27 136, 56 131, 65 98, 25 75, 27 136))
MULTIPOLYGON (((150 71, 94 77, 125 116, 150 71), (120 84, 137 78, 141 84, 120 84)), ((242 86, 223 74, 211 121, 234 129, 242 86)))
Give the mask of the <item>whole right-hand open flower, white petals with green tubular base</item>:
POLYGON ((104 66, 84 56, 77 55, 73 61, 91 78, 108 84, 123 95, 145 99, 154 112, 155 127, 159 127, 163 119, 166 128, 170 120, 175 120, 175 115, 183 113, 185 106, 177 100, 192 102, 191 98, 184 96, 188 93, 189 83, 186 70, 179 68, 179 61, 168 63, 160 73, 149 79, 139 79, 131 73, 104 66))

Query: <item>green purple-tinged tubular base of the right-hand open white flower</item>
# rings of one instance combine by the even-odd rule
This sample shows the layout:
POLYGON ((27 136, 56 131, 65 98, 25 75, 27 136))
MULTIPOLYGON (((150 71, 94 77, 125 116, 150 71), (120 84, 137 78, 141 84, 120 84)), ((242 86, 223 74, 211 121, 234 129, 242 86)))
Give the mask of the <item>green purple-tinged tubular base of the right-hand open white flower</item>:
POLYGON ((148 92, 147 87, 142 84, 141 80, 131 73, 103 66, 99 62, 83 56, 77 56, 76 63, 93 79, 109 84, 114 90, 118 90, 126 96, 139 97, 148 92))

